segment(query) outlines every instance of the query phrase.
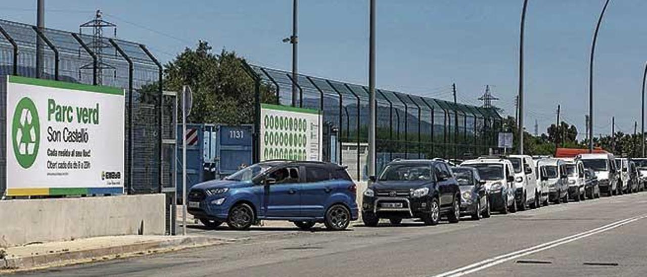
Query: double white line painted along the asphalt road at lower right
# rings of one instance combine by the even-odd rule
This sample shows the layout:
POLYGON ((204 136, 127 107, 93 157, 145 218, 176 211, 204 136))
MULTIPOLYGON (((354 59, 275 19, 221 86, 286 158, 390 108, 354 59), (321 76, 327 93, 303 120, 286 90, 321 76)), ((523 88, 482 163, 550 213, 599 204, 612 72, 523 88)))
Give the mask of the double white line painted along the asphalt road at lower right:
POLYGON ((604 225, 602 227, 594 228, 591 230, 588 230, 586 232, 581 232, 579 234, 574 234, 571 236, 567 236, 565 238, 561 239, 556 239, 554 241, 549 241, 547 243, 542 243, 540 245, 535 245, 534 247, 529 247, 527 249, 521 249, 517 250, 514 252, 510 252, 508 254, 503 254, 500 256, 496 256, 494 258, 489 258, 487 260, 479 261, 477 263, 472 263, 471 265, 466 265, 465 267, 461 267, 459 269, 454 269, 453 271, 448 271, 444 272, 441 274, 437 274, 433 277, 458 277, 458 276, 463 276, 465 274, 470 274, 473 272, 481 271, 483 269, 487 269, 488 267, 493 267, 494 265, 498 265, 499 263, 505 263, 506 261, 514 260, 516 258, 520 258, 522 256, 527 256, 529 254, 533 254, 536 252, 540 252, 543 250, 551 249, 553 247, 557 247, 559 245, 563 245, 565 243, 569 243, 572 241, 576 241, 578 239, 586 238, 588 236, 593 236, 595 234, 599 234, 601 232, 606 232, 608 230, 618 228, 622 225, 626 225, 629 223, 632 223, 634 221, 638 221, 640 219, 647 218, 647 214, 644 214, 642 216, 635 216, 635 217, 630 217, 628 219, 622 219, 620 221, 616 221, 614 223, 610 223, 608 225, 604 225))

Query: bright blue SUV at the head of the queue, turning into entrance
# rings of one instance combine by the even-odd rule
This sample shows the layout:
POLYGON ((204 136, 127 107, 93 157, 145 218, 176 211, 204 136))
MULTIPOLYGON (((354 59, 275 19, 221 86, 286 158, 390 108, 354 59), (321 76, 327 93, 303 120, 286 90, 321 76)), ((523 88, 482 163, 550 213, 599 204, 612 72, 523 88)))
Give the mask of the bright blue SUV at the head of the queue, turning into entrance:
POLYGON ((329 162, 267 161, 193 186, 188 212, 204 225, 247 230, 263 220, 287 220, 308 230, 324 223, 343 230, 357 219, 356 186, 329 162))

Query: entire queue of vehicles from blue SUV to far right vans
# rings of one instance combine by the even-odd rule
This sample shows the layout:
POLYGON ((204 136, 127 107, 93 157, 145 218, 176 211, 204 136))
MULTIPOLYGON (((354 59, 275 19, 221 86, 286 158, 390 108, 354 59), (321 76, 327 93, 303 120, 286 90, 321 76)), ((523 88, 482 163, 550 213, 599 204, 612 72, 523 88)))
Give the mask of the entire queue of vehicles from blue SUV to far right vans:
POLYGON ((450 223, 463 216, 480 220, 492 212, 642 191, 647 176, 641 170, 647 172, 647 159, 634 162, 611 154, 479 157, 460 165, 443 159, 396 159, 369 177, 358 206, 356 185, 343 166, 266 161, 193 186, 187 206, 209 228, 226 223, 247 230, 261 220, 282 220, 303 230, 316 223, 344 230, 360 214, 367 227, 376 227, 380 219, 399 225, 410 218, 436 225, 443 218, 450 223))

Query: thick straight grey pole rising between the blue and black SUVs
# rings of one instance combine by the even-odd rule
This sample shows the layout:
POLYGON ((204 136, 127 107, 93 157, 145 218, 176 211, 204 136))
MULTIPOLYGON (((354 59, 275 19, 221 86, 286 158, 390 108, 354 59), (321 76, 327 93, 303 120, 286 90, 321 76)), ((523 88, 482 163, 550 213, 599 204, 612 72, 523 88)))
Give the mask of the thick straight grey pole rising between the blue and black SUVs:
POLYGON ((369 15, 369 61, 368 61, 368 90, 369 90, 369 124, 368 124, 368 175, 375 176, 375 0, 371 0, 369 15))

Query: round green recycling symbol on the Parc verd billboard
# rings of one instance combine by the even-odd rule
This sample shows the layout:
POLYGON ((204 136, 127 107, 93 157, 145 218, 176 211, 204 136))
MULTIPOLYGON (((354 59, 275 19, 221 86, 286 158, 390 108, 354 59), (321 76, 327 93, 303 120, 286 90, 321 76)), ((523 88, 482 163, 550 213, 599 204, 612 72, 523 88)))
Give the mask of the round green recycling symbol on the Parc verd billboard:
POLYGON ((11 130, 16 160, 23 168, 30 168, 36 161, 40 145, 40 120, 30 98, 23 97, 16 105, 11 130))

